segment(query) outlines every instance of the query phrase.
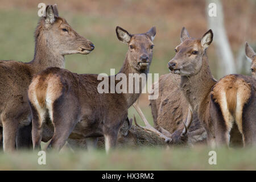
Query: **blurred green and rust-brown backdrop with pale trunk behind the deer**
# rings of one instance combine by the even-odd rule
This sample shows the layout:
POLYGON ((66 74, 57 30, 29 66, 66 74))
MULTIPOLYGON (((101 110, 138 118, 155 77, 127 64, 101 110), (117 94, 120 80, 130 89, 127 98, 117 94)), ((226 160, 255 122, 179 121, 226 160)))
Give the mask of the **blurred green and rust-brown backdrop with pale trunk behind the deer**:
MULTIPOLYGON (((137 34, 156 26, 151 73, 168 73, 167 63, 180 43, 181 28, 186 27, 193 38, 201 38, 209 28, 213 29, 213 45, 208 48, 208 57, 214 77, 218 79, 228 73, 250 75, 244 47, 247 41, 254 50, 256 48, 256 0, 1 0, 1 60, 28 62, 33 59, 40 2, 56 3, 59 15, 96 46, 89 55, 66 56, 65 68, 69 71, 109 74, 110 68, 115 68, 118 72, 127 46, 117 39, 115 27, 121 26, 137 34), (208 15, 211 2, 217 4, 216 18, 208 15)), ((142 94, 139 104, 152 123, 147 94, 142 94)), ((130 109, 129 116, 133 113, 135 111, 130 109)))

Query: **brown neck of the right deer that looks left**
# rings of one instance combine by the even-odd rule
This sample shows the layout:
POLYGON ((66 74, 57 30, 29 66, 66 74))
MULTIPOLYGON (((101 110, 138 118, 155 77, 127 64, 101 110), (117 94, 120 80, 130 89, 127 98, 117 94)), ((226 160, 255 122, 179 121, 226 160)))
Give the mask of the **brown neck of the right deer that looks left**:
MULTIPOLYGON (((210 90, 216 83, 210 72, 207 55, 203 55, 202 67, 196 75, 181 76, 180 87, 194 111, 201 113, 200 109, 207 110, 210 90)), ((204 112, 203 111, 203 112, 204 112)))

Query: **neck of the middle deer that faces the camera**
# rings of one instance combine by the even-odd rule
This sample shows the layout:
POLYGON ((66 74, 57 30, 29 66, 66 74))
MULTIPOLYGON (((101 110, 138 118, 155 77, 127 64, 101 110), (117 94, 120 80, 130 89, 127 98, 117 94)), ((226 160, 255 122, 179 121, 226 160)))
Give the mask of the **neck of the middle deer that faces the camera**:
MULTIPOLYGON (((127 78, 127 93, 123 93, 123 96, 126 99, 128 108, 131 105, 133 105, 135 101, 137 101, 138 97, 142 93, 141 88, 144 88, 144 86, 146 85, 146 84, 142 85, 142 81, 141 81, 141 79, 139 79, 139 86, 140 86, 139 93, 135 93, 135 79, 134 79, 133 84, 132 84, 133 85, 133 93, 128 93, 129 84, 131 81, 131 79, 129 79, 129 74, 135 74, 135 73, 137 73, 138 75, 144 74, 146 76, 146 80, 147 80, 147 73, 149 71, 149 68, 143 72, 139 71, 138 69, 135 69, 134 66, 130 64, 130 61, 129 61, 130 59, 131 58, 129 57, 129 53, 127 52, 123 66, 122 66, 121 70, 119 71, 119 73, 125 74, 126 78, 127 78)), ((117 84, 117 82, 115 84, 117 84)))

